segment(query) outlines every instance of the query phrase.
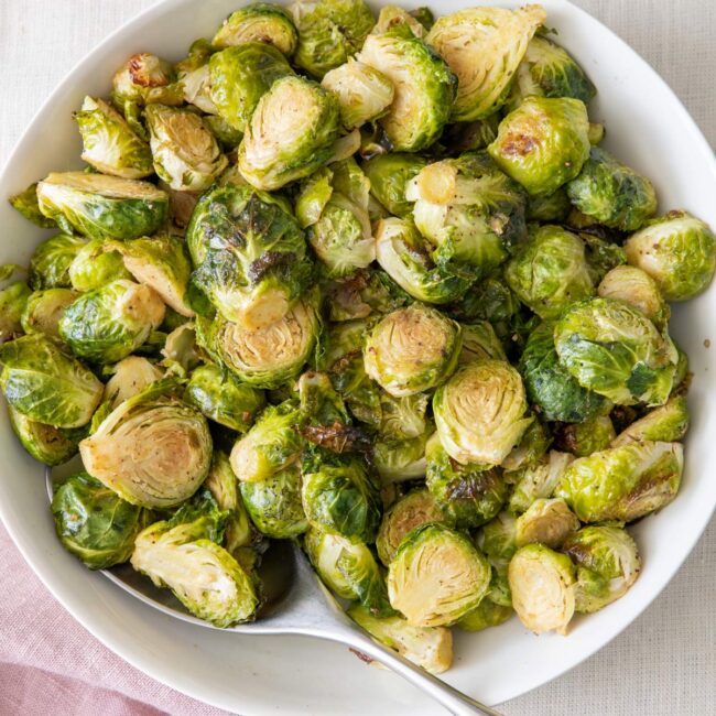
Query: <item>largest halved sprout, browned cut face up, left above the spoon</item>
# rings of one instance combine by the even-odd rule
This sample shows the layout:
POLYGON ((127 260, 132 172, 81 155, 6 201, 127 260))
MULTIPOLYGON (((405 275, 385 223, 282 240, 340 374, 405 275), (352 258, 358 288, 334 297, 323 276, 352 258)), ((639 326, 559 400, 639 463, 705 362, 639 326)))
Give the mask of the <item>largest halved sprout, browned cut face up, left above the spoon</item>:
POLYGON ((170 508, 196 492, 211 464, 206 419, 161 381, 120 403, 79 443, 85 469, 132 505, 170 508))

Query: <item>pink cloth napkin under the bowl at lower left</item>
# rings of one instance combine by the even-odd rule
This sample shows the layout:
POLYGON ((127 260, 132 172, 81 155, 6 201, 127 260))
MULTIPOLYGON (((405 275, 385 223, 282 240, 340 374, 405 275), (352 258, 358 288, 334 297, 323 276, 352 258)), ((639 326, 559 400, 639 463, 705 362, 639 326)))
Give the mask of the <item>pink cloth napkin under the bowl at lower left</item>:
POLYGON ((223 716, 137 671, 67 614, 0 523, 0 714, 223 716))

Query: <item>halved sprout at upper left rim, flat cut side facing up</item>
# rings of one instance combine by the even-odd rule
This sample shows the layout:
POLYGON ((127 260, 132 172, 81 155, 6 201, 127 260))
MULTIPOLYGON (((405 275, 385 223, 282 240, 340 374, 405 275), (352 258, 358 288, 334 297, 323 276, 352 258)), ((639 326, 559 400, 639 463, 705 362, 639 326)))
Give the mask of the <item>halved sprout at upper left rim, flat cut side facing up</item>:
POLYGON ((53 172, 37 184, 40 210, 72 234, 90 239, 134 239, 166 220, 169 196, 149 182, 53 172))

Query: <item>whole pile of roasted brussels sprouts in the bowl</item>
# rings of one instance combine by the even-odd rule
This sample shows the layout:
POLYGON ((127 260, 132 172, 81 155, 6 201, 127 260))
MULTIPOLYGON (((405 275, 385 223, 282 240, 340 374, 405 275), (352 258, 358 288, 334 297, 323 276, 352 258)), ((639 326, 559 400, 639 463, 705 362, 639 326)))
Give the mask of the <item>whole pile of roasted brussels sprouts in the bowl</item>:
MULTIPOLYGON (((63 544, 203 619, 299 540, 373 637, 449 666, 622 596, 676 495, 669 303, 716 238, 603 149, 540 6, 256 3, 75 113, 86 166, 11 198, 0 386, 63 544)), ((657 556, 658 558, 658 556, 657 556)))

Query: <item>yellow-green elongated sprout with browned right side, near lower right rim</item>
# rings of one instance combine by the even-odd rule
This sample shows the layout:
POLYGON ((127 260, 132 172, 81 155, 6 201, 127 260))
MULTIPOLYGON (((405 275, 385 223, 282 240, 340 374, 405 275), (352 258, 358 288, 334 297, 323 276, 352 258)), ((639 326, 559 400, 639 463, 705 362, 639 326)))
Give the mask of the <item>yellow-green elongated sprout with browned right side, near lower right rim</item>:
POLYGON ((681 443, 642 441, 581 457, 555 491, 583 522, 631 522, 671 502, 681 485, 681 443))

